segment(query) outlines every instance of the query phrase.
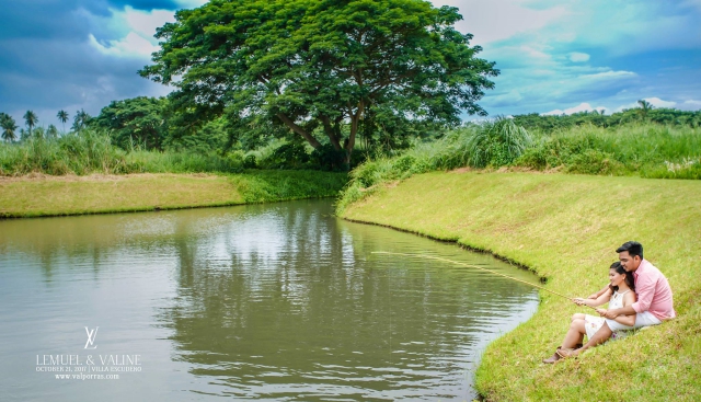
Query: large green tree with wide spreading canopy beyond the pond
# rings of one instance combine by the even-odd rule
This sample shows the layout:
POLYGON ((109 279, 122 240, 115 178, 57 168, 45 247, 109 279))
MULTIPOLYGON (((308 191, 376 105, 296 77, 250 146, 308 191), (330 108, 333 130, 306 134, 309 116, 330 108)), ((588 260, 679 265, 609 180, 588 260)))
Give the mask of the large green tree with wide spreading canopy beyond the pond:
POLYGON ((498 71, 455 30, 460 19, 422 0, 211 0, 158 30, 140 73, 174 84, 192 120, 265 118, 349 159, 371 110, 443 124, 486 114, 476 101, 498 71))

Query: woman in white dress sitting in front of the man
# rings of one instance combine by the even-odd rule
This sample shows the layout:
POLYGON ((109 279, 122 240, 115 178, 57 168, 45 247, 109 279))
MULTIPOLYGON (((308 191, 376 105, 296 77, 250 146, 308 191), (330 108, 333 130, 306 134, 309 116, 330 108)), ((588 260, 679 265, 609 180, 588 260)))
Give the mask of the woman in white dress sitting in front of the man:
MULTIPOLYGON (((633 274, 627 272, 620 262, 611 264, 609 268, 609 289, 599 296, 596 300, 576 298, 574 302, 578 306, 598 307, 608 301, 609 309, 620 309, 622 307, 630 306, 635 302, 635 279, 633 274)), ((635 324, 635 315, 619 315, 616 318, 619 323, 633 329, 635 324)), ((604 325, 605 319, 602 317, 596 317, 590 314, 576 313, 572 315, 572 322, 570 323, 570 330, 565 335, 562 345, 558 347, 560 349, 573 349, 582 347, 584 335, 591 337, 601 325, 604 325)), ((614 332, 611 335, 611 340, 618 340, 624 336, 624 332, 614 332)), ((547 364, 553 364, 561 359, 560 355, 555 353, 543 360, 547 364)))

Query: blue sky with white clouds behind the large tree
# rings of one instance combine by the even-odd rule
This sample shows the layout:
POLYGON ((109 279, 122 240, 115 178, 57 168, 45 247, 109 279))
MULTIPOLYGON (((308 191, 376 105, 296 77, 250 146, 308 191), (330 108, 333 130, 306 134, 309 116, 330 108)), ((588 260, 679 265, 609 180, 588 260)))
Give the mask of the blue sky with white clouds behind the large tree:
MULTIPOLYGON (((159 96, 140 78, 156 28, 204 0, 0 1, 0 112, 39 125, 96 115, 113 100, 159 96)), ((461 32, 502 71, 490 115, 613 113, 646 99, 701 110, 701 0, 434 0, 458 7, 461 32)), ((469 118, 469 117, 467 117, 469 118)))

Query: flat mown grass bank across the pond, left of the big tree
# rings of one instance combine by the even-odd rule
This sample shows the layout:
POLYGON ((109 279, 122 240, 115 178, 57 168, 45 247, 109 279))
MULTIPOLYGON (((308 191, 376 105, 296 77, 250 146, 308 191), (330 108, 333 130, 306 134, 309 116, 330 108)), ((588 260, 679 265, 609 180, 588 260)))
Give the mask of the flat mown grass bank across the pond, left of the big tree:
POLYGON ((343 173, 126 174, 0 177, 0 217, 177 209, 331 197, 343 173))

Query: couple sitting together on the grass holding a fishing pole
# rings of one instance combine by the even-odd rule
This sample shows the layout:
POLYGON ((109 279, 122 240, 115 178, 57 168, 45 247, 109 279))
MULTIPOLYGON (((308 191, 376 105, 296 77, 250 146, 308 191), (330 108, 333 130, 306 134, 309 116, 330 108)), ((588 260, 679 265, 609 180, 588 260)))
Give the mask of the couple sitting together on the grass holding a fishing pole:
POLYGON ((576 313, 562 345, 543 363, 575 357, 609 338, 618 340, 642 326, 657 325, 676 317, 671 289, 667 278, 647 260, 643 245, 636 241, 616 250, 619 261, 609 269, 610 285, 587 299, 576 298, 577 306, 598 307, 607 301, 608 309, 596 309, 600 317, 576 313), (583 344, 584 335, 588 342, 583 344))

